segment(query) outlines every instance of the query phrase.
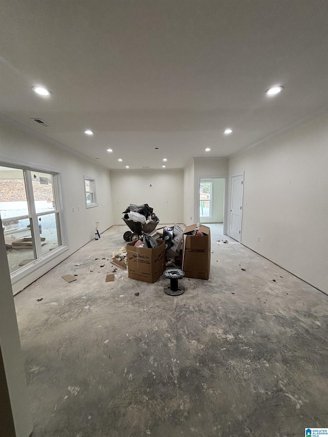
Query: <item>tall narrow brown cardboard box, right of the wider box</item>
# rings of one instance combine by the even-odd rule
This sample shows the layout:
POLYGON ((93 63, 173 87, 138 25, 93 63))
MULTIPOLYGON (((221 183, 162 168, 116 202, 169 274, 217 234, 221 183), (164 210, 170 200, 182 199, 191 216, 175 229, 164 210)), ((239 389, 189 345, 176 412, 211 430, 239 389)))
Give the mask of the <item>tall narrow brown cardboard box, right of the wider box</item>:
POLYGON ((187 278, 209 279, 211 266, 211 231, 200 225, 199 231, 206 234, 203 237, 186 235, 194 231, 196 224, 187 226, 183 233, 182 270, 187 278))

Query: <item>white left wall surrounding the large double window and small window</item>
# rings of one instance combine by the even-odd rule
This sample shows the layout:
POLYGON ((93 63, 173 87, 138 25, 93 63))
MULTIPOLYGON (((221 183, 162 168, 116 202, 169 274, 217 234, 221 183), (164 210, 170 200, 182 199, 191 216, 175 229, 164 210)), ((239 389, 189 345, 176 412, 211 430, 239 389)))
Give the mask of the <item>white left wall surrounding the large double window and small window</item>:
POLYGON ((0 124, 0 151, 2 160, 8 157, 56 168, 61 171, 63 178, 69 249, 14 283, 13 291, 16 293, 90 241, 94 237, 96 221, 99 221, 99 232, 113 224, 110 172, 92 161, 56 148, 5 123, 0 124), (84 175, 96 180, 97 207, 86 209, 84 175))

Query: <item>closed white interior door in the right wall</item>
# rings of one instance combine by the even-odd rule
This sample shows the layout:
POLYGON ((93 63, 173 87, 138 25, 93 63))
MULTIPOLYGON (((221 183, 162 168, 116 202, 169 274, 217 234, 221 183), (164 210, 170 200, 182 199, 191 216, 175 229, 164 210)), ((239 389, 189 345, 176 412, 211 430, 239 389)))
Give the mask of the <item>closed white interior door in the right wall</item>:
POLYGON ((230 237, 239 241, 241 237, 243 175, 231 178, 230 237))

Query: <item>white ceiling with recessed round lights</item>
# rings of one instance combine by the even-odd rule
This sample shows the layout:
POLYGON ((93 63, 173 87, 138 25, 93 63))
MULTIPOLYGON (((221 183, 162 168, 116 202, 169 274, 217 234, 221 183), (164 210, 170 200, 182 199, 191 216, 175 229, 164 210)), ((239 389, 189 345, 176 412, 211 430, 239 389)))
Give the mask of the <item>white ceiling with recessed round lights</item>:
POLYGON ((327 16, 325 0, 2 0, 0 113, 110 169, 229 156, 327 110, 327 16))

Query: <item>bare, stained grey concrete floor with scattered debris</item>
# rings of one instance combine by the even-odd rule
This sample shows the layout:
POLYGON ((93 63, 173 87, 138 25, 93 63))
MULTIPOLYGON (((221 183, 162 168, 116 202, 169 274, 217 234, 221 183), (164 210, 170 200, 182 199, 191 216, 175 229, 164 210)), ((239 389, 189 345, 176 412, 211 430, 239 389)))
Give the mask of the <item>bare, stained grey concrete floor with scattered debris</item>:
POLYGON ((110 263, 95 258, 124 245, 114 226, 15 297, 33 437, 328 426, 328 296, 211 228, 210 280, 184 278, 182 296, 119 269, 105 282, 110 263))

